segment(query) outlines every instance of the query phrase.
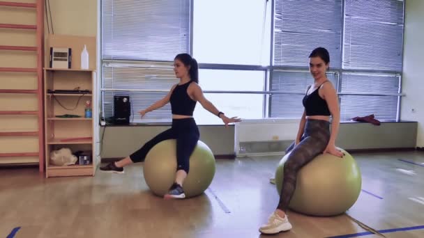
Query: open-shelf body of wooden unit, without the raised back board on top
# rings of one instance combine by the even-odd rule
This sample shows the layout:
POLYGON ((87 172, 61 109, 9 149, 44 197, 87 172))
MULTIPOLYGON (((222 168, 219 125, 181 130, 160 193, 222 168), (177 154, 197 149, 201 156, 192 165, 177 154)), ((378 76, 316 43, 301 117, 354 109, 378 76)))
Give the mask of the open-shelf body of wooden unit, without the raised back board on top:
POLYGON ((84 118, 85 103, 92 104, 92 94, 56 94, 47 90, 73 89, 93 91, 93 71, 45 69, 45 151, 46 177, 81 176, 95 174, 94 125, 92 118, 84 118), (72 80, 71 80, 72 79, 72 80), (64 114, 79 118, 61 118, 64 114), (50 161, 53 150, 69 148, 73 153, 84 151, 91 155, 89 165, 55 166, 50 161), (94 161, 94 163, 93 163, 94 161))

